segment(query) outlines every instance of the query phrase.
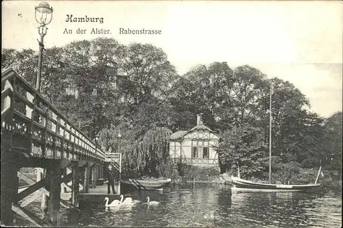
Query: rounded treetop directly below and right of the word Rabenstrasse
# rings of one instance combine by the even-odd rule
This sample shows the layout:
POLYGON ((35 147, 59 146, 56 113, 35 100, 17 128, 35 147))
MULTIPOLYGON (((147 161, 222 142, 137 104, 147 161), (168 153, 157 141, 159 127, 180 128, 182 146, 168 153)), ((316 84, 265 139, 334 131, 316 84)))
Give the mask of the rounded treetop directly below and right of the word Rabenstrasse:
POLYGON ((121 75, 131 82, 126 93, 133 109, 151 97, 161 101, 168 97, 177 75, 162 49, 134 43, 123 49, 119 61, 121 75))

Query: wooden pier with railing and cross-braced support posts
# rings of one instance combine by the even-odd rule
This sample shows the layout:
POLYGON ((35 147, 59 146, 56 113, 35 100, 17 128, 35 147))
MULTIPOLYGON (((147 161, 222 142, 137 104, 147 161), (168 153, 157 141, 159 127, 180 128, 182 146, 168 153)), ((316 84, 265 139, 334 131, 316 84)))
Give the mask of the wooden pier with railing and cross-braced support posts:
POLYGON ((25 79, 12 68, 1 72, 1 225, 13 225, 13 212, 37 226, 57 225, 60 205, 78 208, 80 197, 104 188, 95 185, 104 178, 105 160, 106 153, 25 79), (20 173, 22 167, 40 168, 36 181, 20 173), (19 178, 27 188, 19 190, 19 178), (47 221, 25 209, 40 197, 47 221))

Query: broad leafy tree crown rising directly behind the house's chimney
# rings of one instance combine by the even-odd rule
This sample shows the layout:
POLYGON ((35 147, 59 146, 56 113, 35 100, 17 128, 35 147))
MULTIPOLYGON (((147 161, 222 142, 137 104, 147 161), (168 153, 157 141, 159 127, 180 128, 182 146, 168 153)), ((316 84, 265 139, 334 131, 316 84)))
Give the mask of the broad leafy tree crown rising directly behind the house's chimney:
POLYGON ((214 62, 208 67, 198 65, 180 77, 174 86, 170 101, 176 111, 176 129, 189 129, 196 125, 196 114, 202 113, 205 125, 220 129, 218 121, 225 121, 230 100, 226 91, 232 84, 233 71, 226 62, 214 62))

